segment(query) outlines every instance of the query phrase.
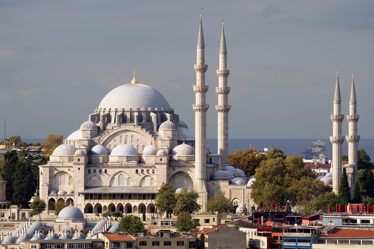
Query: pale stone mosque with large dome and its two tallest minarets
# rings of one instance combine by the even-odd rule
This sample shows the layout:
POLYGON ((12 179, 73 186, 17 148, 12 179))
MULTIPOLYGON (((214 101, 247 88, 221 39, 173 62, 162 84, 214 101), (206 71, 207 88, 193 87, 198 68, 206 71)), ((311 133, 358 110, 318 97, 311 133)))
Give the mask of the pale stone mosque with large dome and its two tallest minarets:
MULTIPOLYGON (((235 206, 254 205, 254 181, 228 162, 229 111, 227 48, 224 29, 217 70, 218 148, 206 145, 205 43, 200 16, 197 41, 195 132, 188 129, 165 97, 132 79, 111 90, 88 121, 71 133, 40 165, 40 197, 47 203, 43 219, 55 219, 56 202, 80 209, 86 218, 95 213, 121 211, 147 218, 156 212, 157 189, 170 181, 176 192, 196 190, 205 211, 206 201, 218 191, 235 206)), ((56 221, 57 222, 57 221, 56 221)), ((62 227, 63 228, 63 227, 62 227)), ((60 232, 58 226, 56 232, 60 232)))

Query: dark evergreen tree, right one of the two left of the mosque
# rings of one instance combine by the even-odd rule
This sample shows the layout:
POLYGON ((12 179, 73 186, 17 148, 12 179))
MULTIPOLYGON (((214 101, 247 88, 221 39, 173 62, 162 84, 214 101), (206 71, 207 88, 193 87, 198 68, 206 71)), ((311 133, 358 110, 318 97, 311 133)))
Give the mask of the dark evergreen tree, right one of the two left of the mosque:
POLYGON ((33 174, 31 173, 28 162, 22 157, 16 164, 15 177, 13 181, 13 201, 22 206, 28 203, 34 196, 34 188, 30 187, 35 184, 33 174))

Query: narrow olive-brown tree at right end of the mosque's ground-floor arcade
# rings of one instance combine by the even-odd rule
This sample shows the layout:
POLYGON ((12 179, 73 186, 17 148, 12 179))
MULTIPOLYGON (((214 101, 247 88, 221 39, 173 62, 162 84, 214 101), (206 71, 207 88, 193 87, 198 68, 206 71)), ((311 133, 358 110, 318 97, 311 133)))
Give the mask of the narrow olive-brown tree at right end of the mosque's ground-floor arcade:
POLYGON ((177 199, 175 198, 174 188, 171 182, 162 182, 154 204, 157 206, 158 213, 163 215, 165 212, 169 216, 169 212, 175 207, 177 199))

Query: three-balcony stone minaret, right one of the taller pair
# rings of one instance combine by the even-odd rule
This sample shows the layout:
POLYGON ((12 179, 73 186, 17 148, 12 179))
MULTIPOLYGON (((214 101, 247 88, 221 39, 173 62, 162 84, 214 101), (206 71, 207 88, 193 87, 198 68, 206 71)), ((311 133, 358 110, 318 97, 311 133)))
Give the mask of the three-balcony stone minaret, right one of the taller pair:
POLYGON ((222 155, 222 164, 229 164, 229 111, 231 106, 228 105, 228 95, 230 87, 227 87, 227 77, 230 70, 227 70, 227 49, 225 32, 223 30, 220 44, 220 69, 217 70, 218 87, 215 91, 218 94, 218 105, 215 110, 218 112, 218 154, 222 155))

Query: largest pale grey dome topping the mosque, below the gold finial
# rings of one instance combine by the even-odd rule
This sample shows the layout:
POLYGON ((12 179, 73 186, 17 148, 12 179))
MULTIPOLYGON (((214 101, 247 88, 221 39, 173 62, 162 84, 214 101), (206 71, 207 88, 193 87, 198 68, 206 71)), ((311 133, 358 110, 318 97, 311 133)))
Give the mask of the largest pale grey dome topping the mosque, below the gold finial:
MULTIPOLYGON (((129 110, 139 108, 170 108, 168 101, 156 89, 143 84, 126 84, 111 90, 98 108, 129 110)), ((101 109, 101 110, 102 110, 101 109)))

